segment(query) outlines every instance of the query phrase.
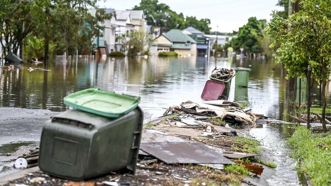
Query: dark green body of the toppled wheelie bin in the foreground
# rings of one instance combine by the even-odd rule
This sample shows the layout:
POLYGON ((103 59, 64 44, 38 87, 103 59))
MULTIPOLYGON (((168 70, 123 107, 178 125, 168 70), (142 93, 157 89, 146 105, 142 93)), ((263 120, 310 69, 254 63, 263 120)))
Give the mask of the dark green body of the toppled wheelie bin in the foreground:
POLYGON ((142 128, 139 107, 117 118, 68 110, 45 123, 39 168, 72 180, 118 170, 134 174, 142 128))

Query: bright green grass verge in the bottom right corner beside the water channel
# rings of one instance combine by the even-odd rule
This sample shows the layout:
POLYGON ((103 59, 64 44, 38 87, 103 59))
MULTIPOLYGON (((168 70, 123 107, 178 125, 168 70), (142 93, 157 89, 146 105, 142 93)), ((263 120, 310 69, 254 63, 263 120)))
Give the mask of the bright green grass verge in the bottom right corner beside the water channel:
POLYGON ((331 185, 331 133, 315 134, 299 126, 288 145, 298 163, 298 171, 304 173, 313 185, 331 185))

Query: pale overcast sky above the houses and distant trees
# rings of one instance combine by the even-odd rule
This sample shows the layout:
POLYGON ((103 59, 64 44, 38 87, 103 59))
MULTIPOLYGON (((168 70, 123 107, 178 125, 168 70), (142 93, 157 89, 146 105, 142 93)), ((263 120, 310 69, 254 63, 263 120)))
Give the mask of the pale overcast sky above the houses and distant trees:
MULTIPOLYGON (((115 8, 116 10, 132 9, 140 4, 140 0, 101 0, 100 8, 115 8)), ((232 33, 247 23, 250 17, 270 20, 272 10, 282 10, 276 6, 278 0, 159 0, 184 16, 196 16, 198 19, 211 20, 211 30, 232 33), (218 26, 217 26, 218 25, 218 26)))

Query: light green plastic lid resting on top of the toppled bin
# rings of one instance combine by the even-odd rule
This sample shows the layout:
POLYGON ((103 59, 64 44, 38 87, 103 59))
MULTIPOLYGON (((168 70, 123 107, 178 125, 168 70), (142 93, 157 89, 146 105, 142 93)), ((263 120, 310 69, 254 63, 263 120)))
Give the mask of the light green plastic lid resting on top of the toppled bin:
POLYGON ((106 117, 119 117, 138 106, 140 97, 88 88, 63 99, 67 106, 106 117))

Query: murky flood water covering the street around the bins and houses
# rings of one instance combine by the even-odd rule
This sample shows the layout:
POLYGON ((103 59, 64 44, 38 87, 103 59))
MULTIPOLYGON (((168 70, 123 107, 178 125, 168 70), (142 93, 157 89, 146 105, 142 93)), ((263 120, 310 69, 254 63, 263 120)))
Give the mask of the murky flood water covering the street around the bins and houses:
MULTIPOLYGON (((96 62, 91 56, 80 56, 77 61, 57 56, 46 67, 49 71, 38 70, 45 68, 43 64, 25 64, 25 69, 0 70, 0 106, 65 111, 68 109, 63 104, 65 96, 78 90, 98 87, 140 96, 146 122, 161 116, 165 111, 163 108, 187 100, 201 101, 204 84, 215 67, 239 66, 252 69, 249 87, 235 87, 233 79, 229 100, 252 108, 254 113, 286 119, 284 70, 273 61, 250 59, 229 61, 224 58, 207 60, 205 57, 151 57, 96 62), (29 71, 29 67, 34 70, 29 71)), ((286 185, 280 182, 282 179, 294 179, 293 184, 298 184, 292 168, 287 172, 287 177, 281 176, 282 171, 288 170, 293 164, 293 160, 288 158, 289 149, 284 145, 286 136, 292 130, 284 132, 283 128, 269 125, 251 131, 255 137, 265 140, 266 148, 277 154, 280 170, 277 169, 279 174, 268 180, 271 185, 286 185), (275 140, 280 141, 278 145, 282 146, 274 145, 275 140)), ((0 153, 4 146, 0 147, 0 153)))

